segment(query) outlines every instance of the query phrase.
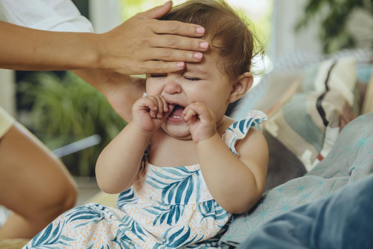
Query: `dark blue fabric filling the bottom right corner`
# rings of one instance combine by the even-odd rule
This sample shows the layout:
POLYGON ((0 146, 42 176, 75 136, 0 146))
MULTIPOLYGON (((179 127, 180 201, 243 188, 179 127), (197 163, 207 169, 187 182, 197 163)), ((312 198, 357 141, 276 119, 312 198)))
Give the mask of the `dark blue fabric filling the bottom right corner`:
POLYGON ((267 222, 240 249, 372 248, 373 174, 267 222))

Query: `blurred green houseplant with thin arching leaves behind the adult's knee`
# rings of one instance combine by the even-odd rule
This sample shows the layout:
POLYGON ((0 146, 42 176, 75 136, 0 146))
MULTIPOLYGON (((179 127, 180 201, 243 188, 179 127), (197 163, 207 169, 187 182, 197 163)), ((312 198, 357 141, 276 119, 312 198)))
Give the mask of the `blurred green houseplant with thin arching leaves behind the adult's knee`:
POLYGON ((91 85, 72 72, 36 72, 18 84, 21 105, 30 106, 28 128, 51 150, 98 134, 101 143, 62 158, 73 175, 94 175, 101 150, 126 122, 91 85))

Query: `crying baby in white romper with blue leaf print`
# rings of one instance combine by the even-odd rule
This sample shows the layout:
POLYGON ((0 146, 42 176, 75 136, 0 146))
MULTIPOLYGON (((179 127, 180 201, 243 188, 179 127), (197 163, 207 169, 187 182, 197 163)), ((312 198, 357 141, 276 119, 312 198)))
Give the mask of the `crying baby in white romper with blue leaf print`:
POLYGON ((266 116, 253 111, 236 122, 224 115, 253 83, 247 24, 213 0, 187 1, 162 19, 205 27, 210 47, 201 62, 148 74, 128 93, 128 125, 96 165, 100 188, 121 193, 119 209, 74 208, 25 248, 218 248, 232 213, 260 198, 268 148, 255 128, 266 116))

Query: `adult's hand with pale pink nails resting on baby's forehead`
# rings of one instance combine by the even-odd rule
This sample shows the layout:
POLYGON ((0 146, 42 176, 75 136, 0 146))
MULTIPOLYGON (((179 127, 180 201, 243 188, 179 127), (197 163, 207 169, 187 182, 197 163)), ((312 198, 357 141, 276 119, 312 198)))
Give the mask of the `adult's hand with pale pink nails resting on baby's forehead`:
POLYGON ((100 67, 125 75, 176 72, 185 62, 199 62, 207 50, 205 40, 196 39, 204 28, 178 21, 159 21, 172 1, 138 13, 101 35, 100 67))

